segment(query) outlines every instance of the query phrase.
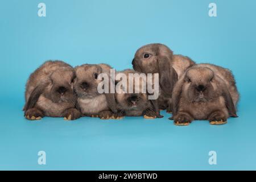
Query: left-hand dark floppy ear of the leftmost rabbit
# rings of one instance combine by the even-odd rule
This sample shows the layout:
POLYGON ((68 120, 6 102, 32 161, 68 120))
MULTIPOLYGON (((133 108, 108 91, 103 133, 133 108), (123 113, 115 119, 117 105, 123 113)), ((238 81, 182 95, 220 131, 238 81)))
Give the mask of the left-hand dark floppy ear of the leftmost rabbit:
POLYGON ((44 88, 44 85, 36 86, 36 88, 32 91, 30 97, 27 100, 26 106, 24 107, 24 111, 27 111, 28 109, 31 109, 35 106, 36 102, 38 101, 38 98, 43 93, 44 88))

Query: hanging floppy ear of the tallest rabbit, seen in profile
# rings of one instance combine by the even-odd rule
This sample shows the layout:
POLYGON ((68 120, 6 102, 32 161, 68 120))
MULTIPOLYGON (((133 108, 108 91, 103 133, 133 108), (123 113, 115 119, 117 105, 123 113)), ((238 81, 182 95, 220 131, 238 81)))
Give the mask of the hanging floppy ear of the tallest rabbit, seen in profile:
POLYGON ((158 58, 159 84, 164 93, 171 96, 174 85, 177 82, 177 73, 166 56, 158 58))

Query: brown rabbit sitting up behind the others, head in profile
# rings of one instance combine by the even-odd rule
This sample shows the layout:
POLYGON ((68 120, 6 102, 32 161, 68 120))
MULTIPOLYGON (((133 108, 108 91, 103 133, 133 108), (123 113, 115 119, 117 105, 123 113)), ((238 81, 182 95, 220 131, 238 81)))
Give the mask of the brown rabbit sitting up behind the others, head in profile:
POLYGON ((173 55, 163 44, 147 44, 137 50, 133 69, 142 73, 159 73, 159 108, 171 112, 171 93, 176 81, 185 70, 195 64, 187 56, 173 55))

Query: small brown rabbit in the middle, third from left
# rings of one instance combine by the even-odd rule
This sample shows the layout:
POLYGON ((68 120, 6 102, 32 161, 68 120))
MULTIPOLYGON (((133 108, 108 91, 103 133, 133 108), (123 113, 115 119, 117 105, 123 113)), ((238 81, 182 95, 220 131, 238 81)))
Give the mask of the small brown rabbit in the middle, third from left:
MULTIPOLYGON (((127 85, 118 85, 116 82, 115 100, 117 102, 118 114, 121 116, 141 116, 146 119, 162 118, 159 114, 157 100, 148 100, 148 93, 142 92, 142 80, 139 82, 130 83, 133 85, 133 93, 129 93, 129 73, 138 73, 133 69, 126 69, 125 71, 118 72, 126 75, 127 85), (126 88, 125 88, 126 87, 126 88), (137 92, 135 92, 137 90, 137 92)), ((139 78, 139 75, 137 75, 139 78)), ((134 75, 136 77, 136 75, 134 75)), ((119 80, 120 81, 120 80, 119 80)), ((143 80, 146 82, 146 80, 143 80)))

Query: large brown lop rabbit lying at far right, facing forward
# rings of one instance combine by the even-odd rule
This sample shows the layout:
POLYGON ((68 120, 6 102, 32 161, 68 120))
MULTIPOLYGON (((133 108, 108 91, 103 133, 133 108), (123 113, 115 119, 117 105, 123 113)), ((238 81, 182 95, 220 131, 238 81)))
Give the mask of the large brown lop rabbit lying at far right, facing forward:
POLYGON ((194 65, 174 87, 172 118, 175 125, 189 125, 194 119, 221 125, 229 116, 237 117, 238 99, 236 81, 229 69, 213 64, 194 65))

